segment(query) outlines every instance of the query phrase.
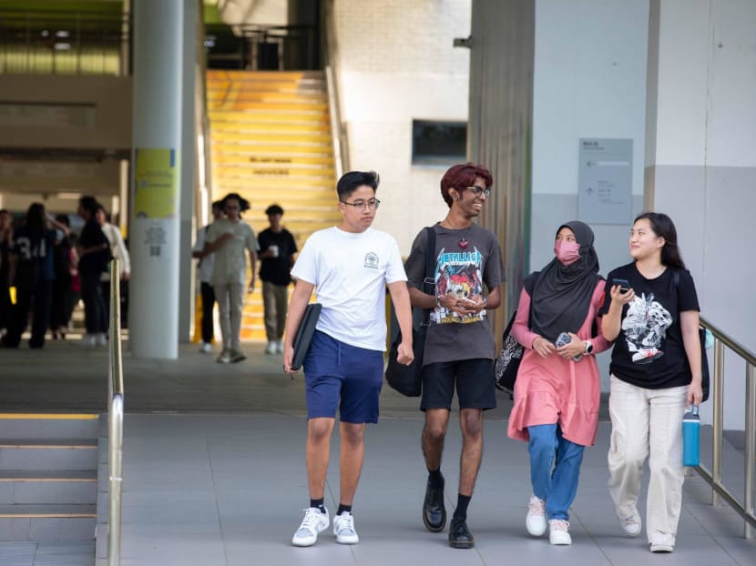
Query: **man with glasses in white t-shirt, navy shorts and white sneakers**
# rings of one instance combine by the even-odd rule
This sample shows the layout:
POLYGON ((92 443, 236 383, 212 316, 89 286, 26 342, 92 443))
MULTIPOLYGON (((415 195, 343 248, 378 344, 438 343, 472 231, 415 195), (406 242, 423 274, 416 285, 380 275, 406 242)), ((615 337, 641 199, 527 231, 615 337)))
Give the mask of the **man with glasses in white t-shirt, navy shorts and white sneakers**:
POLYGON ((294 546, 312 546, 330 524, 323 502, 331 433, 340 409, 341 499, 333 518, 336 542, 359 541, 352 500, 363 468, 365 423, 378 421, 386 342, 385 287, 388 285, 404 340, 397 361, 411 364, 412 311, 399 247, 390 235, 371 228, 380 201, 378 176, 352 171, 336 187, 338 227, 312 234, 291 275, 291 295, 283 369, 292 373, 293 339, 304 309, 317 288, 321 316, 307 355, 304 379, 307 398, 307 479, 310 506, 294 533, 294 546))

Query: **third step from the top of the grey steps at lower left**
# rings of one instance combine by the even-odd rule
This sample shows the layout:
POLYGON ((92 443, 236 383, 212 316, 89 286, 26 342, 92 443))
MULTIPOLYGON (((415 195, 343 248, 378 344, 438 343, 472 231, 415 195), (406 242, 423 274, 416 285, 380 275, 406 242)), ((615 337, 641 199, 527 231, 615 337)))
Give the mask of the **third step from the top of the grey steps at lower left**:
POLYGON ((0 470, 0 505, 96 502, 96 470, 0 470))

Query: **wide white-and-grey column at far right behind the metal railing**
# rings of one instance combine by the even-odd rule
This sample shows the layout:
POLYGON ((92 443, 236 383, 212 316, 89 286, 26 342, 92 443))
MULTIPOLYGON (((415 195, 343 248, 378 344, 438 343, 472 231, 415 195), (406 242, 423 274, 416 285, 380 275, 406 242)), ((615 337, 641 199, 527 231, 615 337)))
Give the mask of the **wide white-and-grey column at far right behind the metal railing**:
MULTIPOLYGON (((645 207, 669 214, 701 316, 756 350, 756 4, 651 0, 645 207)), ((711 354, 710 354, 711 355, 711 354)), ((741 360, 726 362, 725 429, 743 429, 741 360)), ((710 422, 704 403, 701 419, 710 422)))

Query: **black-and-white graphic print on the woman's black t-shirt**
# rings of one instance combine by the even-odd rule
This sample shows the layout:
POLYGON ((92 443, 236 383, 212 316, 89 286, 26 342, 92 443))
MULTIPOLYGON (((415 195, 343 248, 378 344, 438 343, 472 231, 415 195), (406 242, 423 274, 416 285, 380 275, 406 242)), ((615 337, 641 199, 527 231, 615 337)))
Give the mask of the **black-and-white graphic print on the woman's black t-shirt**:
POLYGON ((654 300, 653 293, 648 296, 643 293, 634 298, 628 304, 628 314, 622 320, 628 350, 633 353, 633 363, 648 364, 663 356, 661 342, 671 325, 672 315, 654 300))

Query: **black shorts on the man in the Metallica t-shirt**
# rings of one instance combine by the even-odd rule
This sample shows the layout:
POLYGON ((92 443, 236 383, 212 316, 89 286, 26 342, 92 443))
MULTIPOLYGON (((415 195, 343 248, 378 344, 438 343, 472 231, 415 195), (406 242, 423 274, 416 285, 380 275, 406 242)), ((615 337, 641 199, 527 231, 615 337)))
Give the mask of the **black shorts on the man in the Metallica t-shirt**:
POLYGON ((460 409, 495 409, 494 360, 474 358, 424 366, 420 410, 451 410, 455 384, 460 409))

